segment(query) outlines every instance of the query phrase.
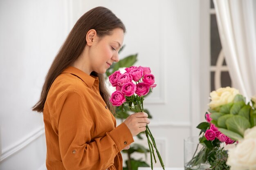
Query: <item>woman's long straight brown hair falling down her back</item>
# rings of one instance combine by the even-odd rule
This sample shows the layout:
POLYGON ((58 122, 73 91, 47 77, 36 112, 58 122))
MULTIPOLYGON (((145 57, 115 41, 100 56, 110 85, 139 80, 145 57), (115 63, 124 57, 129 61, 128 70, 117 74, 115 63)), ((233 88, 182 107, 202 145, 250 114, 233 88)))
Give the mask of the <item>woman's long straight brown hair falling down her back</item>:
MULTIPOLYGON (((95 29, 97 35, 101 38, 105 35, 110 35, 111 31, 115 28, 121 28, 124 33, 126 32, 123 22, 121 22, 112 11, 105 7, 96 7, 83 14, 70 31, 67 39, 52 62, 52 66, 49 68, 45 77, 40 99, 33 106, 32 110, 43 112, 45 100, 52 83, 65 68, 70 66, 79 55, 81 55, 86 45, 85 36, 90 29, 95 29)), ((99 91, 101 97, 113 113, 114 109, 109 101, 110 95, 105 86, 103 74, 95 72, 92 74, 99 77, 99 91)))

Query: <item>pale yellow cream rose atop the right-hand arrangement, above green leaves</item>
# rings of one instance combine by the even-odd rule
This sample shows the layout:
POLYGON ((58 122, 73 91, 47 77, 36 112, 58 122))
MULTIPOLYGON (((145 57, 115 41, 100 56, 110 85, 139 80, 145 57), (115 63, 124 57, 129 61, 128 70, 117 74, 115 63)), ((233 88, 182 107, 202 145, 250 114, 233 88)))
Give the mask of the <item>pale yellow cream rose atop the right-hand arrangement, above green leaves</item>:
POLYGON ((239 94, 239 91, 236 88, 230 87, 219 88, 216 91, 212 91, 210 93, 211 102, 209 103, 209 107, 213 109, 218 106, 233 102, 237 94, 239 94))

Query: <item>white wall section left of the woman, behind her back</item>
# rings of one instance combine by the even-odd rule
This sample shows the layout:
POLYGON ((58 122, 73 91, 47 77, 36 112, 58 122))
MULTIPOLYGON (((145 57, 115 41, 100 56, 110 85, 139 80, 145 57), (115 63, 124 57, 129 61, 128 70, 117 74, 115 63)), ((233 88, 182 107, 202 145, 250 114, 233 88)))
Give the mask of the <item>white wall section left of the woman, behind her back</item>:
POLYGON ((1 170, 45 163, 43 115, 31 111, 67 35, 63 0, 0 1, 1 170))

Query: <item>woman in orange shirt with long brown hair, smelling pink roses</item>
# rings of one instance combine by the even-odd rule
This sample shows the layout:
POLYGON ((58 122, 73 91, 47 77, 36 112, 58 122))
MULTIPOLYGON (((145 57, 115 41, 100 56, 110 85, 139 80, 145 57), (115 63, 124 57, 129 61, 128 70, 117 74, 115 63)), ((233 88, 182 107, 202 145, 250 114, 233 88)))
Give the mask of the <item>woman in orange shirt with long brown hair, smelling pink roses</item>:
POLYGON ((104 84, 125 31, 109 9, 96 7, 76 22, 56 55, 33 108, 43 112, 48 170, 121 170, 120 151, 146 130, 143 112, 116 127, 104 84))

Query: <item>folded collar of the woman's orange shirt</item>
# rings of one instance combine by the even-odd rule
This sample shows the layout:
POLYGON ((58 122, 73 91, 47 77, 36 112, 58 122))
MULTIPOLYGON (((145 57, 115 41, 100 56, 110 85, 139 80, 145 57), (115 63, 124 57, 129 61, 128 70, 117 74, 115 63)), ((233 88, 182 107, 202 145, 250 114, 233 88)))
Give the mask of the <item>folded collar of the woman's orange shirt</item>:
POLYGON ((99 82, 98 77, 88 75, 85 72, 83 72, 83 71, 81 71, 78 68, 73 67, 73 66, 68 66, 62 73, 70 73, 72 75, 75 75, 75 76, 79 77, 89 87, 92 87, 94 82, 99 82))

